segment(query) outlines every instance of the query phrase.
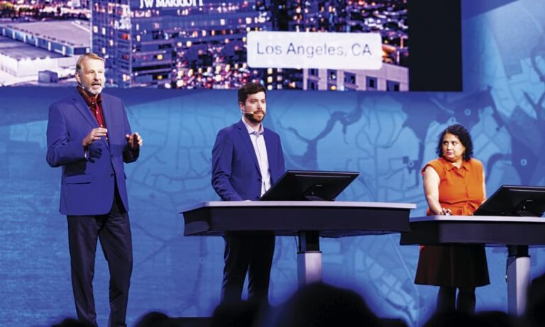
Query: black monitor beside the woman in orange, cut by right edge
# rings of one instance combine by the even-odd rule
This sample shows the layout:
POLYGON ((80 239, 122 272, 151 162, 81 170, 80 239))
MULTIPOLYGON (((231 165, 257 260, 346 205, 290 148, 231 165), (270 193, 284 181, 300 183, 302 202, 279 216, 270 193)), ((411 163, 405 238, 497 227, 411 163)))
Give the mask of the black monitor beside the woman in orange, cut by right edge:
POLYGON ((544 211, 545 187, 502 185, 474 215, 541 217, 544 211))

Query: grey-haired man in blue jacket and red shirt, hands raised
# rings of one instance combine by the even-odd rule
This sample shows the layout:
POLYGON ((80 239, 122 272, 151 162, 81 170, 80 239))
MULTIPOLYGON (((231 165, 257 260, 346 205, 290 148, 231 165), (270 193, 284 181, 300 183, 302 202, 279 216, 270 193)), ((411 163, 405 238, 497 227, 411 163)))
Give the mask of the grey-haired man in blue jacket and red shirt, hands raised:
POLYGON ((142 138, 131 133, 121 100, 101 94, 104 59, 77 60, 77 89, 49 108, 51 167, 62 167, 60 213, 67 216, 72 289, 80 321, 97 326, 93 275, 97 239, 110 272, 109 326, 126 326, 133 269, 123 162, 138 158, 142 138))

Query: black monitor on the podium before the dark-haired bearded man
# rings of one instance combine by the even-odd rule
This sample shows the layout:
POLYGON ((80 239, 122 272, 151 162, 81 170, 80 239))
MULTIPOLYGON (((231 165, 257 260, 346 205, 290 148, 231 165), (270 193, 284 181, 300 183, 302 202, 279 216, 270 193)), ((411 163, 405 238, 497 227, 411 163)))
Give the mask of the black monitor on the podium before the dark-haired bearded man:
POLYGON ((261 196, 263 201, 334 201, 359 172, 288 170, 261 196))

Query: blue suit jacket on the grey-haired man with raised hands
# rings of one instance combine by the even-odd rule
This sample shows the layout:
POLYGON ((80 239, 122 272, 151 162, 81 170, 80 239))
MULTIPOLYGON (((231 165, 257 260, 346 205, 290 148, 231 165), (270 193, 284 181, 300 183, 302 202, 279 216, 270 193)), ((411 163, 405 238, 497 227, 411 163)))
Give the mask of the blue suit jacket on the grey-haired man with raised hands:
POLYGON ((104 93, 101 97, 109 142, 101 138, 89 145, 88 159, 82 141, 99 125, 82 96, 75 90, 49 107, 47 160, 51 167, 62 167, 61 214, 107 214, 114 201, 114 183, 128 211, 123 162, 135 161, 138 151, 128 148, 125 135, 131 134, 131 126, 121 99, 104 93))

